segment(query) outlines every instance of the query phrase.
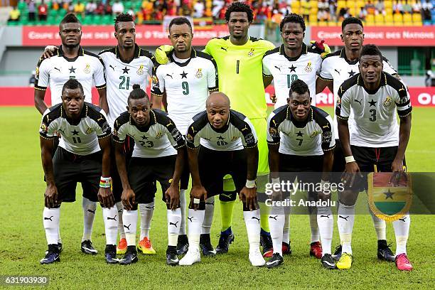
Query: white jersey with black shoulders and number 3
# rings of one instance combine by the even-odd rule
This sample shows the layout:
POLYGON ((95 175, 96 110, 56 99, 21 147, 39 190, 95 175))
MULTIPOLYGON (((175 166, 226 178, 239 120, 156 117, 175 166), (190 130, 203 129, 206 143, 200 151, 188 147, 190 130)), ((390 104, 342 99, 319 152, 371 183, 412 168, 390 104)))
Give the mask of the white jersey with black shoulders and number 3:
POLYGON ((353 112, 355 124, 349 128, 350 145, 389 147, 399 145, 399 117, 412 111, 407 87, 389 73, 382 73, 380 87, 370 91, 363 77, 354 75, 338 89, 335 115, 349 119, 353 112))

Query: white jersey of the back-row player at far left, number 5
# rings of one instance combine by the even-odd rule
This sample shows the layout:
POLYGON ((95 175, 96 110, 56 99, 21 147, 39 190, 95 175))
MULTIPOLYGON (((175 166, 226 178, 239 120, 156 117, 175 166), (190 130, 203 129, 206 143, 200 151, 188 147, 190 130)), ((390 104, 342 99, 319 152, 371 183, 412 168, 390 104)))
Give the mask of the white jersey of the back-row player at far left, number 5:
POLYGON ((104 89, 104 65, 97 55, 79 48, 77 58, 66 58, 62 45, 57 49, 57 55, 51 58, 40 58, 36 65, 35 90, 47 90, 50 86, 51 105, 62 102, 62 87, 70 79, 80 82, 85 91, 85 102, 92 103, 92 81, 97 89, 104 89))

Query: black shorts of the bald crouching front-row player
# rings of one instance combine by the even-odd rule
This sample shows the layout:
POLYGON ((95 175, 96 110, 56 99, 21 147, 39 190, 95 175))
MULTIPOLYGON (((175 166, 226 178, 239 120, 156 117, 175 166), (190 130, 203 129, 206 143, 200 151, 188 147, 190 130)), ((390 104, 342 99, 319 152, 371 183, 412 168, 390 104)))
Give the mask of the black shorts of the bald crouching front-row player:
POLYGON ((245 149, 235 151, 215 151, 200 146, 198 153, 200 180, 207 197, 223 192, 223 178, 232 176, 237 192, 240 192, 247 179, 247 155, 245 149))

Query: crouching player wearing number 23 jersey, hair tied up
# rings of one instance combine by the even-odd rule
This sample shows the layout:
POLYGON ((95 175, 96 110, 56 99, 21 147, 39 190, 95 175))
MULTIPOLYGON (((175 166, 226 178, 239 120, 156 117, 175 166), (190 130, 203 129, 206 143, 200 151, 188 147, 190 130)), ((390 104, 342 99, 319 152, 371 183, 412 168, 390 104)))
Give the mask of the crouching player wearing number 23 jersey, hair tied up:
POLYGON ((137 262, 136 222, 138 203, 151 203, 149 181, 159 181, 166 202, 168 217, 168 249, 166 263, 178 264, 176 246, 181 224, 179 183, 183 170, 185 141, 168 115, 151 109, 149 97, 139 85, 129 95, 128 112, 114 122, 113 138, 117 168, 122 181, 124 230, 127 252, 119 264, 137 262), (134 139, 134 150, 128 168, 125 163, 124 141, 127 135, 134 139))

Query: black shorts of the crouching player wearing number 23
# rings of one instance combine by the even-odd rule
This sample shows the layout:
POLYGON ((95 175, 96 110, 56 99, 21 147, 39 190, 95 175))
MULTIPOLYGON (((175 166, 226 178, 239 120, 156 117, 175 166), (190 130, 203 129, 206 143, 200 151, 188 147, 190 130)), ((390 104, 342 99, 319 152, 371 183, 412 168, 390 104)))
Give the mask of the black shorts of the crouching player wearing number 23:
POLYGON ((156 181, 161 184, 162 200, 166 202, 165 192, 171 186, 176 159, 176 155, 157 158, 131 157, 127 172, 131 189, 136 194, 134 208, 138 203, 154 201, 156 181))

